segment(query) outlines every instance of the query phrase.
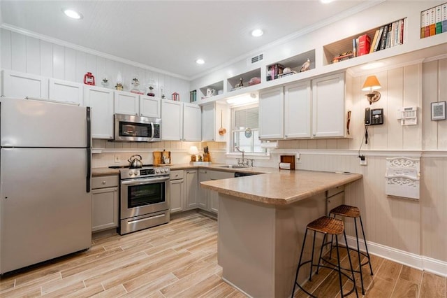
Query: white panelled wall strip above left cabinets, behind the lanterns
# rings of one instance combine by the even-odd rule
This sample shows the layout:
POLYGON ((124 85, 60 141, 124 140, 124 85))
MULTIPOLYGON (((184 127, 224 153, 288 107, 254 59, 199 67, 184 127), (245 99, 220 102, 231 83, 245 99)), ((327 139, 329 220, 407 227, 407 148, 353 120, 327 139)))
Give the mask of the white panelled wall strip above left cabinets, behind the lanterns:
POLYGON ((58 78, 83 83, 87 71, 93 73, 96 85, 106 76, 109 87, 115 86, 117 73, 121 71, 124 90, 131 90, 131 80, 136 75, 140 89, 149 83, 156 83, 156 96, 161 96, 161 87, 167 98, 173 92, 180 94, 181 101, 189 102, 189 81, 142 69, 112 59, 74 50, 68 46, 50 43, 42 39, 26 36, 7 29, 1 29, 1 67, 13 71, 32 73, 38 76, 58 78))

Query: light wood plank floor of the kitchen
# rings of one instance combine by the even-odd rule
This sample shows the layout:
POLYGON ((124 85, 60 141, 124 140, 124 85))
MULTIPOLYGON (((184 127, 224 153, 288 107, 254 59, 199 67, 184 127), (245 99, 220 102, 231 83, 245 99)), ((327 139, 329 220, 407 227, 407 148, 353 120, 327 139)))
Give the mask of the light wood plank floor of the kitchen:
MULTIPOLYGON (((380 257, 372 265, 374 276, 364 269, 366 297, 447 297, 446 278, 380 257)), ((125 236, 95 236, 86 252, 4 274, 0 297, 244 297, 221 272, 217 221, 189 213, 125 236)), ((305 286, 318 297, 339 297, 337 279, 325 270, 305 286)))

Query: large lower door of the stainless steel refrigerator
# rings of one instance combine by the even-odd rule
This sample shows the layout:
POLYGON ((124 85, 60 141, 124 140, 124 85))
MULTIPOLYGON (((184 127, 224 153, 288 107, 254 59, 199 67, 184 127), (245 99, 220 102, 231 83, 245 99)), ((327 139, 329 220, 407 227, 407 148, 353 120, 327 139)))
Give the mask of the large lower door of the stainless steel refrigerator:
POLYGON ((0 271, 89 248, 87 150, 2 148, 0 156, 0 271))

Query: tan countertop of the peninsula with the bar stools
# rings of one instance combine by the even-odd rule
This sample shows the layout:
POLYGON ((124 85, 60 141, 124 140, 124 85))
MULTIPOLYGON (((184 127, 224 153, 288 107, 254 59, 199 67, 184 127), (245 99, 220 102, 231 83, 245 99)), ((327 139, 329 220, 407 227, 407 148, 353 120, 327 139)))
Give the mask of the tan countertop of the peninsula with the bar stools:
POLYGON ((200 185, 233 197, 288 205, 362 178, 358 173, 272 170, 262 175, 204 181, 200 185))

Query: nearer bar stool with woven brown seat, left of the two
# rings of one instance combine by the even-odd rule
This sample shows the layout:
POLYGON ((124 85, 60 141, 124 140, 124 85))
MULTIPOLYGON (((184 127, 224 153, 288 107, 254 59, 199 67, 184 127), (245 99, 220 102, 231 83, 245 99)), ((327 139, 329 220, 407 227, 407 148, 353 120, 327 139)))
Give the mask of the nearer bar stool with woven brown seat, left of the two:
MULTIPOLYGON (((307 263, 311 264, 311 267, 310 267, 310 270, 309 270, 310 271, 310 273, 309 273, 309 281, 312 281, 312 269, 314 267, 316 267, 315 274, 318 274, 318 269, 320 269, 320 267, 325 267, 325 268, 328 268, 328 269, 336 270, 338 272, 340 293, 341 293, 342 297, 351 294, 353 291, 356 291, 356 296, 358 297, 358 292, 357 292, 357 287, 356 287, 356 279, 354 278, 354 271, 353 271, 353 268, 352 268, 351 256, 349 255, 349 253, 348 253, 348 259, 349 259, 349 266, 351 267, 352 277, 347 275, 346 273, 342 272, 342 270, 341 270, 342 267, 340 266, 340 255, 339 255, 339 250, 338 250, 338 248, 339 248, 339 245, 338 245, 338 235, 339 234, 344 234, 344 239, 346 241, 346 234, 344 232, 344 223, 343 223, 342 220, 339 220, 337 218, 330 218, 328 216, 322 216, 321 218, 318 218, 318 219, 314 220, 313 222, 310 222, 307 225, 306 232, 305 232, 305 239, 302 241, 302 248, 301 248, 301 253, 300 253, 300 260, 298 262, 298 268, 296 269, 295 284, 293 285, 292 297, 295 294, 295 288, 296 288, 297 285, 307 295, 309 295, 311 297, 315 297, 314 295, 310 294, 305 289, 303 289, 301 287, 301 285, 297 281, 298 273, 300 271, 300 268, 303 265, 307 264, 307 263), (308 260, 306 262, 301 262, 302 261, 302 253, 303 253, 303 251, 305 249, 307 231, 309 229, 311 231, 314 231, 314 241, 312 242, 312 255, 311 255, 311 259, 310 260, 308 260), (314 264, 314 250, 315 250, 316 232, 323 234, 323 241, 321 242, 320 257, 318 257, 318 262, 316 262, 316 264, 314 264), (325 265, 325 264, 320 264, 321 260, 325 261, 321 255, 323 253, 323 247, 325 246, 326 235, 335 236, 335 243, 337 244, 336 245, 336 248, 337 248, 337 259, 338 259, 338 264, 337 265, 334 265, 334 264, 331 264, 331 263, 328 263, 331 266, 328 266, 328 265, 325 265), (352 290, 350 290, 346 294, 343 293, 342 274, 344 276, 346 276, 347 278, 349 278, 353 282, 353 285, 354 285, 352 290)), ((329 243, 326 243, 326 244, 329 244, 329 243)), ((348 246, 347 242, 346 242, 346 246, 348 246)))

